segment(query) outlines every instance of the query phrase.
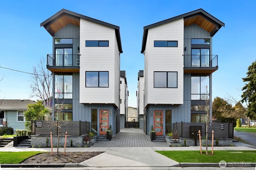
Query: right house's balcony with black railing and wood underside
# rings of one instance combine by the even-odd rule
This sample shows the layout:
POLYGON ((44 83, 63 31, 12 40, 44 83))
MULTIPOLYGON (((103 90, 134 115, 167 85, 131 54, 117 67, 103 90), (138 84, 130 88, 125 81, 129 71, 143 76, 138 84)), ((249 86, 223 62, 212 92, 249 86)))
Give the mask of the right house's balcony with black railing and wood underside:
POLYGON ((218 55, 183 55, 184 73, 213 73, 218 70, 218 55))

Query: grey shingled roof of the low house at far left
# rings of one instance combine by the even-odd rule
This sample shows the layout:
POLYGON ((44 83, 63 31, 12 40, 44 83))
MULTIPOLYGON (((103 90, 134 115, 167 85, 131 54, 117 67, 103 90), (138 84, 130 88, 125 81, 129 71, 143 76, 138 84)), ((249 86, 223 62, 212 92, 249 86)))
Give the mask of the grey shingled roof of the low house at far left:
POLYGON ((27 110, 29 104, 35 104, 32 100, 1 100, 0 110, 27 110))

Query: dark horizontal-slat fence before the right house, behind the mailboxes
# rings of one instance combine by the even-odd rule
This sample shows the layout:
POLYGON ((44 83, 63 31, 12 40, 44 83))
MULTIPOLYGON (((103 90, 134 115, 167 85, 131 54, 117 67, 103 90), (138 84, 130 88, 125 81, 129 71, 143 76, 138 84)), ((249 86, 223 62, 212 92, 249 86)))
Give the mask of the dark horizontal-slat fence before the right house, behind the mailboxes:
MULTIPOLYGON (((198 134, 198 129, 201 131, 201 136, 206 136, 206 123, 173 123, 173 130, 178 131, 179 137, 194 137, 198 134)), ((233 138, 234 127, 233 123, 211 123, 208 124, 208 137, 212 136, 214 131, 214 138, 233 138)))

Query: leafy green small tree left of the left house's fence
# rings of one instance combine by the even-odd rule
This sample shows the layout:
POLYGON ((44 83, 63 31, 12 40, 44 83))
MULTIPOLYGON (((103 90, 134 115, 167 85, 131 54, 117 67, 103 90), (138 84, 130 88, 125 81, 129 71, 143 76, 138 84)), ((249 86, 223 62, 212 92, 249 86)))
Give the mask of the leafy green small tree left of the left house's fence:
POLYGON ((43 120, 44 115, 48 115, 49 110, 45 108, 41 101, 35 104, 29 104, 27 111, 24 112, 26 119, 25 127, 31 131, 31 121, 32 120, 43 120))

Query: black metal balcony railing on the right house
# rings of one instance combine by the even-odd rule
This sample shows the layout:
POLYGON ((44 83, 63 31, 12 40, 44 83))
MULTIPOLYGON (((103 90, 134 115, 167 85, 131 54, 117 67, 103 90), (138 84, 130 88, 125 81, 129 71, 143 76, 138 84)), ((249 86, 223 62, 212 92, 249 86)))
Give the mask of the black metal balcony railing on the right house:
POLYGON ((184 67, 218 67, 218 55, 183 55, 184 67))

